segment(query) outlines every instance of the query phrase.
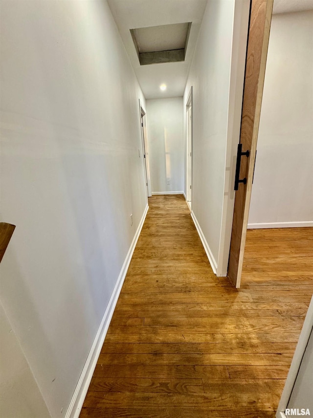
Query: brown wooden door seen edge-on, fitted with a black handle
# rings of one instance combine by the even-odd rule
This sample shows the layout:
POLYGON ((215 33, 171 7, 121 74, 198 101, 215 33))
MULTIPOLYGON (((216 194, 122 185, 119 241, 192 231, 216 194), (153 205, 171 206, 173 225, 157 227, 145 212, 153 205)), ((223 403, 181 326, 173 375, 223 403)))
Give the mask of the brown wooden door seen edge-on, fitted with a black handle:
POLYGON ((240 183, 235 193, 227 276, 238 289, 244 262, 246 231, 251 198, 252 180, 258 139, 261 104, 268 53, 269 29, 273 0, 251 0, 249 32, 246 52, 246 71, 243 93, 239 144, 243 156, 240 165, 240 183))

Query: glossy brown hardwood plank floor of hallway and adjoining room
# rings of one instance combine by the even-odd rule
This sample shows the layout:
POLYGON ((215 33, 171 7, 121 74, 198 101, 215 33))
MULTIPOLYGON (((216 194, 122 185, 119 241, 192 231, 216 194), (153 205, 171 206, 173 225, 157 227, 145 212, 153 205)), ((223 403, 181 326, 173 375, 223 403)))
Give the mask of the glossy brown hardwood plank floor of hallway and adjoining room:
POLYGON ((149 206, 80 417, 274 417, 313 292, 312 229, 249 230, 238 291, 182 196, 149 206))

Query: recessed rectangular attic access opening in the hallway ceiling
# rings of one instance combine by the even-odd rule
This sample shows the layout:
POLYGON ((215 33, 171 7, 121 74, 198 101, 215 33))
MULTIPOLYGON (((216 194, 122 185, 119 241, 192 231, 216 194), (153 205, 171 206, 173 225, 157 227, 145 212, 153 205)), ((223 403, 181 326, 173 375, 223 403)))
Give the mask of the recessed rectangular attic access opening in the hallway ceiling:
POLYGON ((140 65, 184 61, 191 22, 130 29, 140 65))

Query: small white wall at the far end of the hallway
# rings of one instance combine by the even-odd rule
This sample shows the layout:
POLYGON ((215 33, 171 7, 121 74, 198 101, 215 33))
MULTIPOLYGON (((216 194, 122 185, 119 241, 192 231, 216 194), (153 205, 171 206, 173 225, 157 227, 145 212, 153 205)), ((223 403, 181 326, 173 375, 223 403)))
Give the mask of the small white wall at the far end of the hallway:
POLYGON ((146 101, 152 193, 184 190, 182 98, 146 101), (170 184, 167 184, 167 180, 170 184))

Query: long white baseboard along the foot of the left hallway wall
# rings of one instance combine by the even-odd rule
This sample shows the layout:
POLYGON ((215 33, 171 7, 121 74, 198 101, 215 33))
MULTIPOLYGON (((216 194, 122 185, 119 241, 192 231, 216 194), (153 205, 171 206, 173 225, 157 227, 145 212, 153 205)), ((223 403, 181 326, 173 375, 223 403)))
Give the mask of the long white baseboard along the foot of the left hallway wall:
POLYGON ((69 403, 69 406, 67 408, 67 413, 65 414, 65 418, 78 418, 79 414, 81 412, 81 409, 83 407, 83 403, 90 385, 90 381, 92 378, 92 374, 94 372, 94 369, 97 364, 98 357, 101 352, 101 348, 104 342, 104 339, 107 335, 107 331, 112 319, 112 315, 117 303, 118 296, 120 294, 120 291, 122 289, 126 273, 128 270, 128 267, 130 265, 135 246, 137 244, 143 223, 145 221, 147 212, 148 212, 149 206, 147 205, 145 208, 145 211, 142 215, 141 221, 138 225, 138 228, 136 230, 133 242, 130 246, 130 249, 127 253, 127 256, 125 258, 123 267, 119 273, 116 285, 114 287, 114 290, 112 292, 110 301, 108 303, 107 309, 103 315, 103 318, 101 320, 100 326, 98 328, 97 334, 93 340, 93 343, 91 345, 89 355, 87 357, 84 369, 80 375, 80 378, 78 380, 76 389, 74 391, 74 394, 72 396, 72 399, 69 403))

